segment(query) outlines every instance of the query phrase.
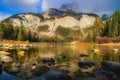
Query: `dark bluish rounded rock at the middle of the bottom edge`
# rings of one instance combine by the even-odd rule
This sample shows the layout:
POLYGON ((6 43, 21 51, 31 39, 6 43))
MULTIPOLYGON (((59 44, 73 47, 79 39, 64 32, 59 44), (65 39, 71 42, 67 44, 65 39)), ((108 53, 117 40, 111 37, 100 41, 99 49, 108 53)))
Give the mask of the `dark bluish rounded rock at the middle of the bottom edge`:
POLYGON ((49 71, 41 76, 41 80, 70 80, 66 73, 61 71, 49 71))

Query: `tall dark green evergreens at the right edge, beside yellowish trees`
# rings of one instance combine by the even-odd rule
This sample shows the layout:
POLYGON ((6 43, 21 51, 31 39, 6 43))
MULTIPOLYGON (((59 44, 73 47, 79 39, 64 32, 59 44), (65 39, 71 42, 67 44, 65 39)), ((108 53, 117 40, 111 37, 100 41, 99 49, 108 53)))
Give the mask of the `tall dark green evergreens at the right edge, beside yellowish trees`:
POLYGON ((105 23, 104 36, 120 36, 120 10, 117 10, 105 23))

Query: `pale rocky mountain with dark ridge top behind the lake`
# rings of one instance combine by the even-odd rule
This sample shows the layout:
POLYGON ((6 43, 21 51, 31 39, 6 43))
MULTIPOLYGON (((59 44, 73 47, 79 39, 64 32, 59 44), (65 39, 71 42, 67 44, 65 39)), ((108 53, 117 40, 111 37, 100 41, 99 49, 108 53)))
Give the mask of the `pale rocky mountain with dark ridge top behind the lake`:
MULTIPOLYGON (((27 27, 32 32, 36 32, 40 38, 54 38, 58 28, 63 29, 61 30, 63 31, 61 33, 64 33, 64 30, 67 32, 75 32, 74 28, 77 27, 76 32, 78 32, 80 29, 84 34, 83 29, 92 26, 96 17, 98 17, 98 15, 92 13, 77 13, 72 10, 61 11, 58 9, 48 9, 41 14, 23 13, 13 15, 7 18, 5 21, 10 22, 13 26, 27 27)), ((61 39, 64 39, 66 37, 64 35, 68 34, 65 32, 66 34, 61 35, 59 30, 58 32, 59 34, 57 36, 61 39)), ((75 36, 74 34, 72 35, 75 36)), ((69 36, 70 33, 67 35, 67 37, 69 36)))

